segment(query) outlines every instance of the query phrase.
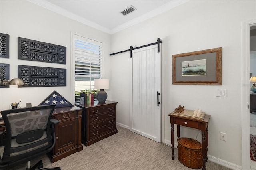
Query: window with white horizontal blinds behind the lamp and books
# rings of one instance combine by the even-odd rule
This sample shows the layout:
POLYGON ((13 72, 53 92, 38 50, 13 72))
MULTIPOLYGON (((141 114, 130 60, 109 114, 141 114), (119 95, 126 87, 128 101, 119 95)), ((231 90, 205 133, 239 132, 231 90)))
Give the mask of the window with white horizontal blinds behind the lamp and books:
POLYGON ((80 92, 94 93, 94 79, 102 77, 102 43, 73 34, 75 102, 80 92))

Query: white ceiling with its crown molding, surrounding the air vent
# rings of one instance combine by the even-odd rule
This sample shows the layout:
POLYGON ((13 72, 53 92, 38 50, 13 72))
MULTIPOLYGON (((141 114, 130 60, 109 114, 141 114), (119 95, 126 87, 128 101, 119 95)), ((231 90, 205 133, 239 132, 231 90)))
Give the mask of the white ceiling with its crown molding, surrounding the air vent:
POLYGON ((188 0, 28 0, 44 8, 114 34, 170 10, 188 0), (120 12, 133 6, 124 16, 120 12))

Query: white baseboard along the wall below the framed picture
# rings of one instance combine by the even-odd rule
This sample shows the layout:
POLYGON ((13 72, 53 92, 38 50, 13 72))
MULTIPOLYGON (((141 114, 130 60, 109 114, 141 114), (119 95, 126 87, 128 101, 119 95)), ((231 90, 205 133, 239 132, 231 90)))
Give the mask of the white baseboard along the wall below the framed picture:
MULTIPOLYGON (((172 146, 170 140, 164 140, 164 144, 166 144, 166 145, 168 145, 168 146, 172 146)), ((177 143, 174 143, 174 148, 177 148, 177 143)), ((214 162, 214 163, 216 163, 216 164, 225 166, 225 167, 230 168, 230 169, 233 169, 233 170, 242 170, 242 166, 238 166, 238 165, 236 165, 236 164, 232 164, 232 163, 230 163, 230 162, 227 162, 227 161, 225 161, 225 160, 216 158, 216 157, 211 156, 211 155, 209 155, 209 154, 207 155, 207 157, 208 157, 208 160, 210 160, 211 162, 214 162)))

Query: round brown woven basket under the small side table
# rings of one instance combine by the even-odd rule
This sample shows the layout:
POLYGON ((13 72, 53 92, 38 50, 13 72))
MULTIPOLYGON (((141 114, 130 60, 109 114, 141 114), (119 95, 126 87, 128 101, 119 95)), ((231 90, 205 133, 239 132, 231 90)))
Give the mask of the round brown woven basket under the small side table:
POLYGON ((202 168, 202 144, 192 138, 178 138, 178 160, 189 168, 202 168))

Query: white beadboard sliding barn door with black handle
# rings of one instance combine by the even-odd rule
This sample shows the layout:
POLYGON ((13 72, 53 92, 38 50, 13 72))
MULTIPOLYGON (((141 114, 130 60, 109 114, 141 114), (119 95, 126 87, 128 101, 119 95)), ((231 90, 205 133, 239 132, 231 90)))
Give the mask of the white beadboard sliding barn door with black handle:
POLYGON ((158 93, 161 94, 161 52, 157 52, 157 45, 133 50, 130 130, 161 142, 158 93))

